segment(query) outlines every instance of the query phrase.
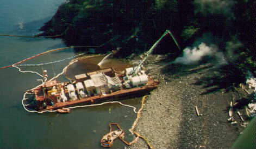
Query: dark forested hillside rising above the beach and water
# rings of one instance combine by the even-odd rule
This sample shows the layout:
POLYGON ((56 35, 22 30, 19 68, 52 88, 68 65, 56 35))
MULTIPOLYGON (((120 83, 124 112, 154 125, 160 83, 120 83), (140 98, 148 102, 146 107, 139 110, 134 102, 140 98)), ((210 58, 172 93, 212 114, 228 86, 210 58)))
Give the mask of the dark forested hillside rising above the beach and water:
MULTIPOLYGON (((255 72, 255 1, 252 0, 70 0, 41 30, 69 45, 102 45, 104 52, 121 47, 124 55, 147 50, 172 31, 180 47, 214 45, 226 61, 255 72)), ((182 54, 171 38, 159 53, 182 54), (171 41, 171 42, 170 42, 171 41)), ((246 72, 246 71, 245 71, 246 72)))

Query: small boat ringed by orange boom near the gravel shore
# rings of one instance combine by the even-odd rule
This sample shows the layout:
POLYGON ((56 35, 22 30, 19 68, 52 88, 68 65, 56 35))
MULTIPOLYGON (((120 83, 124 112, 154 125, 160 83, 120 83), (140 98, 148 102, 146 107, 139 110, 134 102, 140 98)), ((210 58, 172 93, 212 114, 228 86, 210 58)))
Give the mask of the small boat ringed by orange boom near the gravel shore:
POLYGON ((124 132, 122 129, 118 129, 116 131, 111 131, 108 134, 104 135, 101 139, 101 146, 103 147, 111 147, 113 145, 113 141, 118 138, 122 137, 124 132))

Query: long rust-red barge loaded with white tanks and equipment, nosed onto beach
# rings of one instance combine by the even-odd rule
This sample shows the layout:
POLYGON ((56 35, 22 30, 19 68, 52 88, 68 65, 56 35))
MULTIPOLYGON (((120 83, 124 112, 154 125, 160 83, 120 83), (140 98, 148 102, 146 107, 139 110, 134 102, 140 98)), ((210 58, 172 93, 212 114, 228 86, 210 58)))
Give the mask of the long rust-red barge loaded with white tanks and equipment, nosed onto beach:
MULTIPOLYGON (((47 76, 47 71, 44 71, 47 76)), ((144 70, 138 67, 115 72, 113 68, 79 74, 74 82, 47 81, 41 86, 28 90, 30 102, 27 108, 36 111, 55 111, 76 105, 92 105, 108 99, 118 100, 137 94, 146 94, 158 85, 144 70)))

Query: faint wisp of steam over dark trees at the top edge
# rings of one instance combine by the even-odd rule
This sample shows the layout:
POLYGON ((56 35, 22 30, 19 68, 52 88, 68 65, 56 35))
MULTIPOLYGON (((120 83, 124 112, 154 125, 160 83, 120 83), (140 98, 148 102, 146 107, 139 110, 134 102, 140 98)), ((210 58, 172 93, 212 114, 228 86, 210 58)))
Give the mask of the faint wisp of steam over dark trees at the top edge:
POLYGON ((196 13, 201 12, 204 16, 223 14, 226 17, 234 17, 232 7, 235 3, 232 0, 195 0, 193 2, 196 13))

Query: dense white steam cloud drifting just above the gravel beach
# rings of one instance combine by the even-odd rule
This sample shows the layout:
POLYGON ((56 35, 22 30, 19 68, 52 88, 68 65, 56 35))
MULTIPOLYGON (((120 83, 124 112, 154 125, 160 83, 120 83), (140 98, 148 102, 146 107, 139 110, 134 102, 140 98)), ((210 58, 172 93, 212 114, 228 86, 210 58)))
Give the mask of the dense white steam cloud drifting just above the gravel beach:
POLYGON ((227 63, 223 53, 218 51, 218 48, 214 44, 208 47, 205 43, 199 44, 198 48, 185 48, 183 50, 183 56, 178 57, 174 63, 193 64, 201 60, 204 56, 214 57, 219 64, 227 63))

